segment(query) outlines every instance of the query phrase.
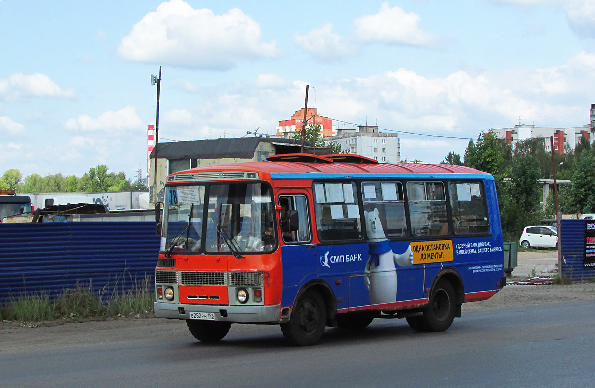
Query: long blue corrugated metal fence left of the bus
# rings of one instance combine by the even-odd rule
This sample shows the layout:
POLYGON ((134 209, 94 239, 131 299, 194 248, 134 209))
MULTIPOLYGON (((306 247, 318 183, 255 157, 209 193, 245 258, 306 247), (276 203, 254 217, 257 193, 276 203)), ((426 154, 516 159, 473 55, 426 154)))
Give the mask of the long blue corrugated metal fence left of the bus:
POLYGON ((0 224, 0 303, 77 282, 108 295, 152 283, 158 248, 152 222, 0 224))

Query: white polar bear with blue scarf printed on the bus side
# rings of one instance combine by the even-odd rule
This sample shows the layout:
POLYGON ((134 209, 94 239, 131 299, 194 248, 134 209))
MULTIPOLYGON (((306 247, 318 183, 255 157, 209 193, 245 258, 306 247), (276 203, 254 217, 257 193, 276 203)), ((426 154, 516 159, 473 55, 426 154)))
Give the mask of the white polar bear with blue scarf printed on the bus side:
POLYGON ((397 272, 395 264, 399 267, 413 265, 413 253, 408 246, 402 254, 394 254, 386 239, 384 229, 378 218, 378 209, 364 212, 366 230, 369 237, 370 258, 366 264, 366 286, 370 292, 370 303, 391 303, 397 297, 397 272))

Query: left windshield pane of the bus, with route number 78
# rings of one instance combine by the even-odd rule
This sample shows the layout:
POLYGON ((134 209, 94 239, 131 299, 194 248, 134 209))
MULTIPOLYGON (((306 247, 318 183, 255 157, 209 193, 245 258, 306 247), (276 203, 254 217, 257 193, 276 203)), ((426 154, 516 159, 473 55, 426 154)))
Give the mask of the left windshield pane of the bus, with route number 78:
POLYGON ((205 186, 167 187, 165 252, 200 252, 205 186))

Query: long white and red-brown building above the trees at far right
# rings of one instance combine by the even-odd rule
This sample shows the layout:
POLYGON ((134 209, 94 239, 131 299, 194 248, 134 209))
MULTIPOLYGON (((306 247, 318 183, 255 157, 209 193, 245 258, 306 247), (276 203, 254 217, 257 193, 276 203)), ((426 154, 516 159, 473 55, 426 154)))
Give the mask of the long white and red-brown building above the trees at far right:
MULTIPOLYGON (((593 111, 593 109, 591 109, 593 111)), ((493 131, 500 139, 506 141, 512 146, 516 142, 521 142, 528 139, 543 139, 546 151, 550 151, 551 142, 550 137, 554 138, 554 152, 563 155, 566 145, 574 149, 581 141, 581 138, 593 142, 595 140, 595 132, 591 132, 591 124, 585 124, 583 127, 570 128, 547 128, 536 127, 534 125, 518 124, 512 128, 500 128, 493 131)))

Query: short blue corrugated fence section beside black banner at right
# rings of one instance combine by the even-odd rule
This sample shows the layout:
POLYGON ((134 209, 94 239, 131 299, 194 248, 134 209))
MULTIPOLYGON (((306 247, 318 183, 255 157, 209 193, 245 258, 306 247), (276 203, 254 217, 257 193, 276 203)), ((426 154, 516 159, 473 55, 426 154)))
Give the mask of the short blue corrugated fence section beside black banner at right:
POLYGON ((573 281, 595 279, 595 268, 583 268, 585 250, 585 220, 562 220, 562 276, 573 281))

